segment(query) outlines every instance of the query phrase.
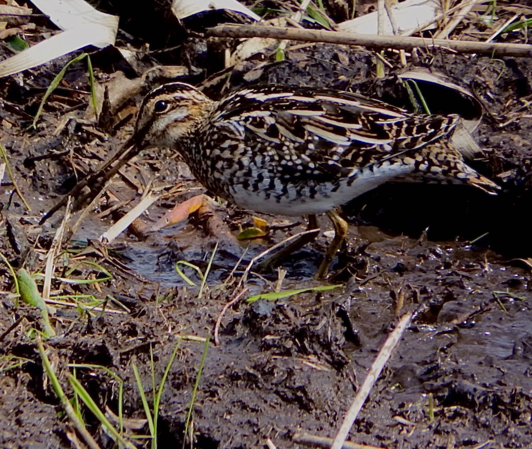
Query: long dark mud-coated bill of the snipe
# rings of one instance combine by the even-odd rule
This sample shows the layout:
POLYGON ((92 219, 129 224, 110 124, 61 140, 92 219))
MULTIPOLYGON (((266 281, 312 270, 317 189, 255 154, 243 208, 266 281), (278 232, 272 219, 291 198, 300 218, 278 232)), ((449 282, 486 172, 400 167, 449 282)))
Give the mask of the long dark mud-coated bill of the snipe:
POLYGON ((85 204, 88 199, 92 200, 98 192, 101 191, 105 183, 117 174, 118 170, 120 170, 127 161, 144 149, 144 146, 141 144, 142 137, 142 135, 138 135, 137 133, 132 135, 126 143, 120 146, 109 158, 102 162, 94 172, 88 174, 72 187, 71 191, 67 193, 59 203, 50 209, 43 218, 41 218, 39 225, 42 225, 48 220, 48 218, 52 217, 55 212, 66 205, 69 196, 75 198, 72 203, 73 211, 81 209, 82 205, 85 204), (89 188, 89 192, 80 195, 80 192, 85 187, 89 188))

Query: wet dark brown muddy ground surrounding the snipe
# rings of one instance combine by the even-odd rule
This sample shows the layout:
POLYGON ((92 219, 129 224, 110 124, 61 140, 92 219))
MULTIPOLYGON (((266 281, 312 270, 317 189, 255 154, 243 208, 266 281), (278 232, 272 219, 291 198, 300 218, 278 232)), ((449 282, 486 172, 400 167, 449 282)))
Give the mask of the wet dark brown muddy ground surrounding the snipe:
MULTIPOLYGON (((124 24, 128 33, 134 27, 131 22, 124 24)), ((39 27, 46 31, 51 25, 43 21, 39 27)), ((123 33, 118 45, 139 45, 128 36, 123 33)), ((35 43, 40 37, 27 39, 35 43)), ((1 51, 3 57, 10 55, 5 48, 1 51)), ((180 63, 185 53, 184 48, 164 56, 139 53, 137 74, 161 62, 180 63)), ((202 59, 201 52, 193 54, 200 75, 180 79, 200 83, 218 67, 203 67, 209 58, 202 59)), ((112 65, 111 56, 108 50, 94 53, 99 82, 118 70, 120 64, 112 65)), ((309 45, 289 49, 287 62, 268 65, 253 82, 352 88, 409 107, 395 76, 404 69, 398 66, 396 55, 386 56, 394 68, 387 69, 384 80, 377 80, 371 52, 309 45)), ((84 63, 71 67, 50 97, 37 129, 28 129, 45 87, 68 59, 8 77, 0 85, 1 142, 16 184, 31 207, 31 212, 26 209, 4 175, 0 253, 15 270, 24 266, 31 273, 44 272, 45 256, 64 211, 43 226, 38 225, 40 218, 73 185, 74 166, 78 176, 86 174, 132 130, 131 119, 123 120, 110 135, 85 118, 89 87, 84 63)), ((192 443, 187 444, 263 447, 270 438, 277 447, 288 448, 300 447, 294 439, 298 433, 334 437, 397 316, 410 310, 414 312, 412 324, 373 387, 350 439, 408 449, 532 447, 532 295, 526 263, 532 257, 532 119, 528 106, 532 66, 529 59, 440 52, 422 52, 419 66, 450 76, 483 104, 485 114, 475 138, 490 151, 474 166, 499 183, 502 193, 491 197, 461 186, 390 185, 345 206, 349 236, 327 281, 343 287, 277 301, 239 301, 225 312, 220 344, 211 343, 206 353, 193 427, 189 428, 192 443), (434 419, 429 395, 434 398, 434 419)), ((224 88, 244 83, 243 70, 232 71, 224 88)), ((134 114, 149 85, 161 81, 147 80, 126 108, 134 114)), ((217 88, 210 89, 213 95, 217 88)), ((444 98, 449 97, 434 94, 430 100, 433 112, 463 111, 459 100, 444 98)), ((115 125, 119 121, 120 116, 115 125)), ((61 296, 58 300, 91 294, 107 299, 106 308, 89 312, 54 306, 52 323, 57 335, 46 342, 46 348, 69 398, 73 392, 66 373, 73 368, 68 364, 96 364, 118 375, 124 385, 123 416, 132 420, 145 418, 132 363, 139 369, 152 404, 151 366, 158 385, 178 344, 162 392, 157 436, 159 447, 176 447, 185 438, 186 415, 204 348, 202 338, 213 338, 222 308, 241 291, 236 287, 245 262, 303 230, 305 223, 261 215, 270 234, 247 244, 244 262, 234 272, 244 250, 227 232, 237 235, 238 225, 250 226, 252 213, 231 205, 215 206, 207 217, 193 216, 148 236, 130 230, 109 247, 99 244, 97 237, 138 202, 139 186, 142 190, 151 181, 173 191, 168 200, 149 210, 143 218, 148 223, 169 205, 203 192, 172 152, 143 154, 116 177, 73 237, 63 242, 65 253, 57 258, 55 271, 56 277, 63 278, 103 277, 97 267, 79 263, 83 260, 101 265, 112 273, 112 279, 52 283, 52 297, 61 296), (108 208, 112 212, 103 214, 108 208), (218 228, 206 225, 213 216, 222 223, 218 228), (174 264, 184 260, 204 271, 217 241, 207 287, 198 298, 198 287, 186 284, 174 264)), ((79 217, 80 212, 74 214, 68 226, 79 217)), ((320 224, 323 231, 330 227, 325 218, 320 224)), ((312 274, 328 239, 329 234, 322 233, 282 262, 287 270, 283 290, 325 283, 313 281, 312 274)), ((199 284, 192 270, 186 273, 199 284)), ((276 272, 250 274, 242 299, 273 291, 277 278, 276 272)), ((40 286, 42 278, 37 282, 40 286)), ((15 307, 10 295, 13 279, 5 263, 0 264, 0 286, 0 446, 76 447, 69 441, 69 420, 43 375, 30 332, 41 329, 39 314, 27 305, 15 307)), ((109 373, 77 368, 76 376, 102 410, 118 413, 118 382, 109 373)), ((113 447, 99 421, 81 409, 99 445, 113 447)), ((148 434, 143 424, 127 435, 148 434)), ((150 445, 146 439, 135 441, 142 447, 150 445)))

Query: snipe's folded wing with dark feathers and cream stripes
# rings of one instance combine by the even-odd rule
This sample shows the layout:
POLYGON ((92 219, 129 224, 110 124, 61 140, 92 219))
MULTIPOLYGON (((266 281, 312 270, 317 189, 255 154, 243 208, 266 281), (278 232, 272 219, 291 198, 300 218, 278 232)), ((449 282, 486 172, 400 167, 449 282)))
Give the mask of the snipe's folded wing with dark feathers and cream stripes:
POLYGON ((211 123, 228 139, 259 146, 281 176, 334 180, 415 151, 451 133, 459 120, 412 116, 354 93, 279 86, 231 94, 211 123))

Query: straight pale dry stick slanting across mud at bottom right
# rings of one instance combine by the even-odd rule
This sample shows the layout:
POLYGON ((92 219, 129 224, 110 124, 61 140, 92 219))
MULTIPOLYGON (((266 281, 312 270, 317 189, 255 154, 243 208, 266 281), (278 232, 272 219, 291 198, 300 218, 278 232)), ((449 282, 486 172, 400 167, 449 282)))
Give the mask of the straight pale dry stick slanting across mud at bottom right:
POLYGON ((404 330, 410 324, 411 318, 411 312, 404 314, 401 320, 399 320, 397 323, 394 331, 388 335, 388 338, 384 342, 377 358, 373 362, 373 365, 371 365, 368 375, 364 379, 364 383, 360 387, 359 392, 356 394, 350 409, 347 411, 344 422, 342 423, 342 427, 340 427, 340 430, 338 430, 338 434, 336 435, 331 449, 342 449, 345 439, 347 438, 347 434, 351 430, 356 417, 359 415, 362 405, 364 405, 365 400, 368 399, 368 395, 373 387, 373 384, 375 384, 377 381, 377 378, 386 365, 386 362, 392 355, 392 351, 397 346, 399 340, 401 340, 404 330))

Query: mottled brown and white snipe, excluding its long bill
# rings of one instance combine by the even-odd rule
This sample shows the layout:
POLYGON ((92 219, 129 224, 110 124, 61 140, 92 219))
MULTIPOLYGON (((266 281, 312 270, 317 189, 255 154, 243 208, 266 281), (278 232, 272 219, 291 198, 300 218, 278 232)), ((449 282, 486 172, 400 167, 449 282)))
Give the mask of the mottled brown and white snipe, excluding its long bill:
POLYGON ((171 82, 146 95, 126 147, 135 148, 131 154, 176 150, 204 187, 239 208, 308 215, 309 228, 326 213, 335 237, 316 272, 322 278, 347 233, 337 206, 381 184, 465 184, 497 193, 500 186, 465 162, 471 144, 457 137, 462 122, 335 89, 254 85, 213 100, 171 82))

